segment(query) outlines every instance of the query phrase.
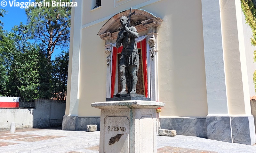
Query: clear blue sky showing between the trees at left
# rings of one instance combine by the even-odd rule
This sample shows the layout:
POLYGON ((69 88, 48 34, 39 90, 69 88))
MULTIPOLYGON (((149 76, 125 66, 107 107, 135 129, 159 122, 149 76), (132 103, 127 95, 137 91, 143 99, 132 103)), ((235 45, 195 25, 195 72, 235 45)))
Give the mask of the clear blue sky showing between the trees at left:
MULTIPOLYGON (((0 0, 1 2, 2 0, 0 0)), ((19 0, 17 0, 19 1, 19 0)), ((22 2, 27 2, 27 0, 22 0, 22 2)), ((14 25, 19 25, 20 22, 23 24, 27 23, 27 15, 25 13, 25 9, 20 9, 20 7, 10 7, 7 5, 6 7, 0 6, 1 9, 4 9, 7 14, 4 17, 1 17, 0 20, 4 23, 4 30, 11 31, 14 25)), ((34 40, 30 41, 33 42, 34 40)), ((52 59, 55 59, 55 56, 60 54, 63 49, 55 49, 52 53, 52 59)))

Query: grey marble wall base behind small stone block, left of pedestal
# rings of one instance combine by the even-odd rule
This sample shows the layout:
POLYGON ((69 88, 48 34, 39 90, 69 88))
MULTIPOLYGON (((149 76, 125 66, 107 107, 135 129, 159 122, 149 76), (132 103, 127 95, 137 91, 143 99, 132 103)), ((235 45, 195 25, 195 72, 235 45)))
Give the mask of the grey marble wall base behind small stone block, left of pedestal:
POLYGON ((97 131, 100 130, 100 117, 77 117, 76 130, 87 130, 87 125, 96 124, 97 131))

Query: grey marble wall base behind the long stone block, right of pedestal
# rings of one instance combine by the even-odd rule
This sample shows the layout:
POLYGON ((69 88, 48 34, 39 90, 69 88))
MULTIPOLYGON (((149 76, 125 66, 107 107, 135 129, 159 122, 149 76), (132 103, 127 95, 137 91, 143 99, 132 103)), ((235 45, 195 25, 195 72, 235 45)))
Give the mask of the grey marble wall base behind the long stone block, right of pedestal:
POLYGON ((206 118, 159 118, 161 129, 176 130, 177 135, 207 138, 206 118))

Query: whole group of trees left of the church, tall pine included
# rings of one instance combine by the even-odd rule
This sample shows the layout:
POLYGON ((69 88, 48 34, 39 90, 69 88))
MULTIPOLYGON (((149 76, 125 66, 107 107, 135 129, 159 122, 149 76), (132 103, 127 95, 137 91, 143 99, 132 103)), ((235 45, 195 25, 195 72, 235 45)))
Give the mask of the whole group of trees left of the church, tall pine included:
MULTIPOLYGON (((5 13, 0 9, 0 17, 5 13)), ((55 48, 69 46, 71 8, 31 7, 26 14, 28 25, 9 32, 0 20, 0 96, 66 99, 68 52, 51 56, 55 48), (32 43, 34 38, 42 43, 32 43)))

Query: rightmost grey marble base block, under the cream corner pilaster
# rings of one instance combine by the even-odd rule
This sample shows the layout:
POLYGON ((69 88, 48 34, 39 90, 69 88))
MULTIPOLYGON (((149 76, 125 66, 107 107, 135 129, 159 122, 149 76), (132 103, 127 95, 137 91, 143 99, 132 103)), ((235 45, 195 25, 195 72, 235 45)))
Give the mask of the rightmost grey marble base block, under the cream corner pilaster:
POLYGON ((231 116, 234 143, 253 145, 256 143, 253 116, 231 116))

